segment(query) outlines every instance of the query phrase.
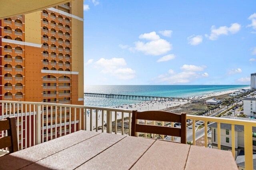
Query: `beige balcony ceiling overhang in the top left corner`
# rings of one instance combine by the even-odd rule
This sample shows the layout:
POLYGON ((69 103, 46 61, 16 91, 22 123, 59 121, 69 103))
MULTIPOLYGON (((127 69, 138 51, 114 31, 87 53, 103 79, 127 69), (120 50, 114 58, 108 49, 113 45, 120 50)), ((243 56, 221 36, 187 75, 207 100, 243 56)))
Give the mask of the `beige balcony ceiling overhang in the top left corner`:
POLYGON ((72 0, 2 0, 0 19, 43 10, 72 0))

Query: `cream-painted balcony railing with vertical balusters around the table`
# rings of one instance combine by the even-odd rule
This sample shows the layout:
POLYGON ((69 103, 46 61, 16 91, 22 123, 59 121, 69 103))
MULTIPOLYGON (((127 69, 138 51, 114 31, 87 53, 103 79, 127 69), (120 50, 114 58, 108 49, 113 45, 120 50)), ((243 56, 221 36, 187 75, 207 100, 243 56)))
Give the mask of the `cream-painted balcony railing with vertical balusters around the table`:
MULTIPOLYGON (((7 97, 12 98, 12 96, 4 96, 6 99, 7 97)), ((53 101, 55 102, 55 101, 53 101)), ((60 101, 59 101, 60 102, 60 101)), ((23 123, 19 125, 20 131, 25 131, 25 141, 21 141, 20 149, 23 147, 27 148, 33 145, 37 145, 39 143, 44 142, 44 133, 49 135, 50 140, 53 138, 61 137, 62 135, 66 135, 68 133, 76 132, 78 130, 88 130, 88 131, 99 131, 98 127, 104 125, 106 128, 101 128, 100 131, 106 133, 120 133, 122 135, 131 135, 131 123, 132 123, 132 110, 128 109, 116 109, 116 108, 104 108, 104 107, 89 107, 89 106, 79 106, 79 105, 70 105, 70 104, 53 104, 52 102, 14 102, 14 101, 0 101, 1 104, 10 106, 9 109, 12 110, 13 106, 16 107, 17 104, 21 104, 18 106, 19 109, 23 108, 24 113, 26 114, 25 126, 23 123), (15 104, 15 105, 14 105, 15 104), (51 107, 50 111, 48 110, 48 114, 50 115, 44 119, 44 115, 46 115, 46 110, 44 107, 51 107), (58 111, 58 114, 53 114, 55 110, 63 110, 63 112, 58 111), (68 110, 69 109, 69 110, 68 110), (69 113, 67 113, 69 111, 69 113), (37 113, 40 112, 40 116, 37 113), (43 114, 41 114, 43 113, 43 114), (36 116, 31 117, 34 114, 36 116), (88 116, 87 116, 88 115, 88 116), (98 118, 100 115, 100 118, 98 118), (30 118, 28 117, 30 116, 30 118), (54 117, 55 116, 55 117, 54 117), (117 123, 117 117, 121 120, 120 123, 117 123), (124 121, 124 118, 126 120, 124 121), (50 119, 49 119, 50 118, 50 119), (71 119, 70 119, 71 118, 71 119), (46 126, 42 121, 46 121, 46 126), (69 120, 69 121, 68 121, 69 120), (125 124, 124 124, 125 123, 125 124), (50 125, 48 125, 50 124, 50 125), (75 125, 74 125, 75 124, 75 125), (124 131, 124 125, 126 125, 126 134, 124 131), (117 129, 117 126, 120 128, 117 129), (96 127, 96 128, 94 128, 96 127), (58 129, 57 129, 58 128, 58 129), (54 131, 64 131, 63 133, 59 134, 55 133, 54 131), (31 133, 30 133, 31 132, 31 133), (50 132, 48 134, 48 132, 50 132), (32 135, 34 134, 34 135, 32 135)), ((5 107, 4 107, 5 108, 5 107)), ((17 108, 18 109, 18 108, 17 108)), ((13 114, 12 114, 13 115, 13 114)), ((11 116, 12 116, 11 115, 11 116)), ((7 115, 10 116, 10 115, 7 115)), ((17 117, 17 115, 15 115, 17 117)), ((4 115, 4 118, 6 115, 4 115)), ((0 119, 2 117, 0 116, 0 119)), ((25 120, 25 116, 18 116, 17 122, 21 122, 25 120)), ((217 133, 216 142, 218 143, 218 149, 221 149, 221 134, 220 134, 220 123, 227 123, 231 124, 231 134, 230 134, 230 143, 232 146, 232 154, 235 156, 235 126, 234 125, 242 125, 244 126, 244 153, 245 153, 245 168, 246 169, 253 169, 253 145, 252 145, 252 127, 256 127, 256 121, 248 121, 248 120, 240 120, 240 119, 227 119, 227 118, 220 118, 220 117, 207 117, 207 116, 196 116, 196 115, 187 115, 187 119, 192 121, 192 141, 193 145, 196 144, 196 120, 204 121, 204 140, 207 141, 207 128, 208 122, 216 122, 217 123, 217 133)), ((165 123, 162 123, 164 126, 165 123)), ((171 123, 173 125, 173 123, 171 123)), ((18 131, 18 136, 21 135, 24 138, 23 133, 20 134, 18 131)), ((146 134, 145 134, 146 135, 146 134)), ((155 136, 154 136, 155 137, 155 136)), ((171 137, 171 140, 174 138, 171 137)), ((48 138, 46 139, 48 141, 48 138)), ((205 147, 208 147, 207 142, 205 143, 205 147)), ((209 150, 210 152, 210 150, 209 150)))

